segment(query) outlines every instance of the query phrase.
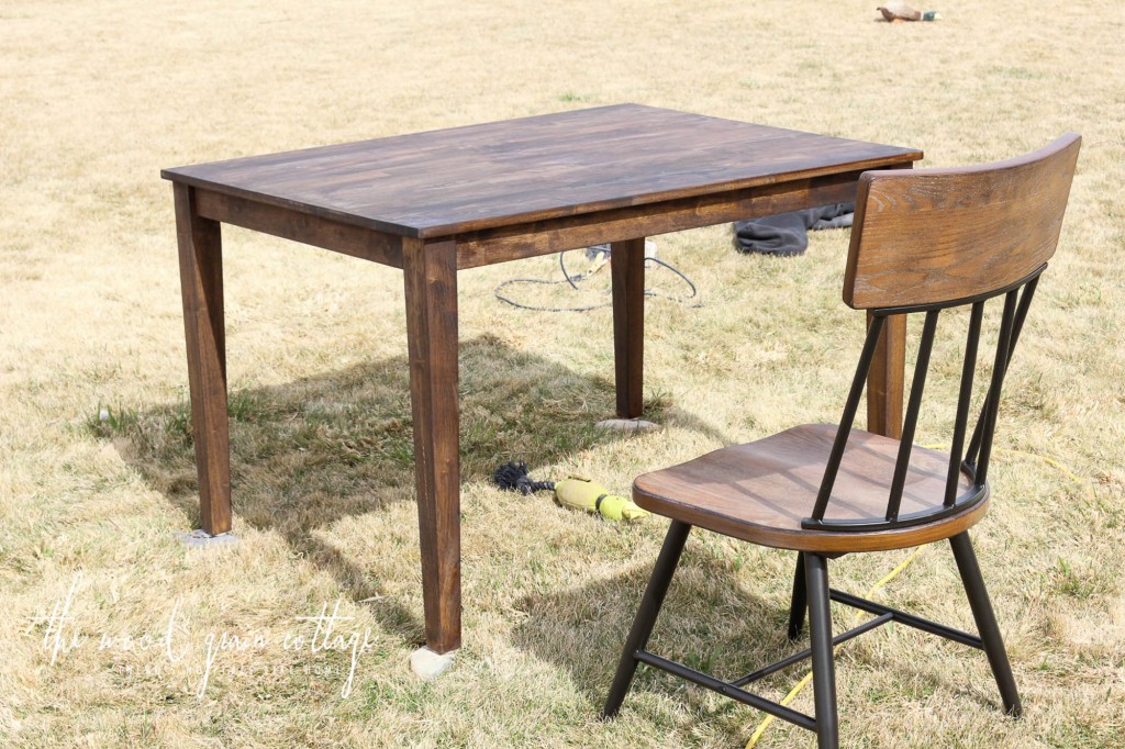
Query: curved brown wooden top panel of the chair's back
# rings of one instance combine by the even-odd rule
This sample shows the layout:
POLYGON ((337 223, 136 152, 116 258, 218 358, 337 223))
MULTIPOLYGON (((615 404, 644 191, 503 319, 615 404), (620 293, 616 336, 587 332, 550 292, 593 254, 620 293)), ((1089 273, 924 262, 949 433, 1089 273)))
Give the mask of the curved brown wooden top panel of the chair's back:
POLYGON ((1015 283, 1054 254, 1081 137, 996 164, 860 180, 844 301, 938 304, 1015 283))

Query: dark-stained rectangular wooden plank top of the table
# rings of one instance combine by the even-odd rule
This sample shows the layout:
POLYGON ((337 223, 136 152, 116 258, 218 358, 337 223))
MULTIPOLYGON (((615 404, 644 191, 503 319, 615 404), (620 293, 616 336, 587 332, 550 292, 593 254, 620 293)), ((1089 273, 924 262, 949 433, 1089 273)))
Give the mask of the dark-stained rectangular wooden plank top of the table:
POLYGON ((430 238, 921 157, 915 148, 615 105, 179 166, 161 175, 430 238))

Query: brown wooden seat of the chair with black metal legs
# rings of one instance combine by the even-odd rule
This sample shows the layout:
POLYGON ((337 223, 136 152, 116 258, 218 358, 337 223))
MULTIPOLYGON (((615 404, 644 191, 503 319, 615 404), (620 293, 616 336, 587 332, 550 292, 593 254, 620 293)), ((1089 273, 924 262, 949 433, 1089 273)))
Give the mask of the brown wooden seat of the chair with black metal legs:
MULTIPOLYGON (((963 512, 890 531, 806 530, 836 436, 831 424, 802 424, 716 450, 633 482, 641 507, 691 525, 777 549, 821 553, 902 549, 956 535, 983 515, 988 498, 963 512)), ((882 518, 899 441, 852 430, 825 521, 882 518)), ((900 514, 937 509, 950 458, 915 445, 900 514)), ((961 475, 958 495, 972 488, 961 475)))

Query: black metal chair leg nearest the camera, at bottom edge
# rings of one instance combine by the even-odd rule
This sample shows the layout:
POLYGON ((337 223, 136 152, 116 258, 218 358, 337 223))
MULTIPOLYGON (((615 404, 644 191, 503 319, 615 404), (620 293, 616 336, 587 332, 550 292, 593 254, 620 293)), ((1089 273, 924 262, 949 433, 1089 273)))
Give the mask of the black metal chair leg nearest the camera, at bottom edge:
POLYGON ((817 710, 818 749, 838 749, 836 665, 832 659, 832 617, 828 601, 828 560, 804 556, 809 598, 809 639, 812 641, 812 701, 817 710))

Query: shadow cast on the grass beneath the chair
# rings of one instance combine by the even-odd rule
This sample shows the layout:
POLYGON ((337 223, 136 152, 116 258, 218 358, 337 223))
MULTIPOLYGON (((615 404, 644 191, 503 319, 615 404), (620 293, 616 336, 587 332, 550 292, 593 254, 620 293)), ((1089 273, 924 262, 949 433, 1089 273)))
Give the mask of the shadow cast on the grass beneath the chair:
MULTIPOLYGON (((693 538, 699 533, 701 531, 693 531, 693 538)), ((770 550, 770 553, 777 554, 782 569, 792 569, 795 552, 770 550)), ((654 553, 650 562, 633 566, 615 577, 557 593, 524 596, 514 605, 528 615, 513 631, 513 643, 568 673, 575 687, 601 711, 655 561, 654 553)), ((722 557, 721 549, 716 556, 713 549, 688 540, 652 630, 647 647, 649 651, 719 679, 732 680, 809 647, 807 622, 796 641, 788 638, 788 587, 780 597, 776 594, 770 597, 758 595, 753 589, 753 581, 747 590, 745 575, 740 579, 731 561, 722 557)), ((924 611, 918 613, 925 615, 924 611)), ((867 615, 860 620, 849 616, 846 626, 836 623, 834 633, 838 635, 844 629, 868 619, 867 615)), ((902 624, 891 626, 898 626, 907 637, 917 638, 919 643, 942 642, 934 635, 902 624)), ((878 642, 880 634, 866 637, 878 642)), ((969 648, 948 642, 945 646, 958 653, 958 658, 983 659, 983 653, 974 653, 969 648)), ((847 669, 902 675, 898 694, 903 702, 914 700, 922 705, 935 692, 965 692, 961 676, 943 671, 937 659, 929 665, 918 665, 889 657, 878 644, 858 651, 855 649, 857 646, 844 648, 835 657, 837 684, 842 664, 846 664, 844 668, 847 669)), ((804 660, 744 688, 780 701, 809 668, 810 661, 804 660)), ((1002 711, 994 687, 991 676, 986 675, 972 689, 979 693, 976 698, 982 706, 1002 711)), ((702 694, 710 695, 702 687, 640 664, 623 709, 632 707, 644 713, 654 710, 652 702, 647 697, 673 695, 673 700, 705 713, 708 719, 747 710, 734 700, 721 697, 711 702, 712 707, 693 696, 702 694)), ((811 700, 811 694, 810 687, 807 702, 811 700)), ((804 710, 811 711, 811 704, 804 710)), ((651 719, 658 720, 655 714, 651 719)))

